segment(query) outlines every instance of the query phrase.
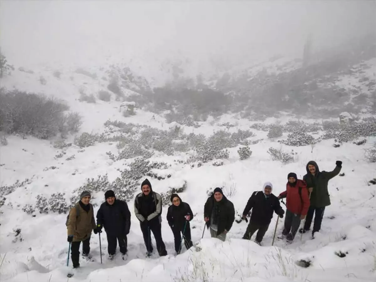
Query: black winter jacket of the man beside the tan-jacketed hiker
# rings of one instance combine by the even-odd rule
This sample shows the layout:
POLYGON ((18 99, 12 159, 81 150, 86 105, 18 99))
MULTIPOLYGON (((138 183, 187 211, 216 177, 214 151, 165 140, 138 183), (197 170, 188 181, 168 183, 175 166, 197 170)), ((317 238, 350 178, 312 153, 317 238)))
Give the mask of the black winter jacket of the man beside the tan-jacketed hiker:
POLYGON ((103 225, 109 235, 127 235, 130 229, 130 212, 127 203, 117 199, 112 205, 104 202, 97 212, 97 224, 103 225))

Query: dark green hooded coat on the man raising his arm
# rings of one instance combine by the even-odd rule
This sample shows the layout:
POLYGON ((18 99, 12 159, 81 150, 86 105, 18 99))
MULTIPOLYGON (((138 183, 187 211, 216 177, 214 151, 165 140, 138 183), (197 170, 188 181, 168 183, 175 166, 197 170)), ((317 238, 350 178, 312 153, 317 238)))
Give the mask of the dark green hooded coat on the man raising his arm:
POLYGON ((313 188, 311 193, 311 206, 330 206, 331 202, 328 192, 328 182, 340 173, 341 167, 336 166, 333 171, 320 171, 317 163, 311 161, 307 163, 306 171, 307 174, 303 176, 303 180, 306 181, 308 188, 313 188), (312 175, 311 172, 309 172, 308 165, 314 165, 316 167, 315 175, 312 175))

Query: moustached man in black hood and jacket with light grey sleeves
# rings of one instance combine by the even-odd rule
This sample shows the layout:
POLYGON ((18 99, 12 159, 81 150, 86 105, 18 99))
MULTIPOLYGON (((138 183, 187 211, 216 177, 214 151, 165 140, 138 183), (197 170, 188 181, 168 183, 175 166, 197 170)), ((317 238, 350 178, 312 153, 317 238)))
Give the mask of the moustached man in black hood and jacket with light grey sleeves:
POLYGON ((152 184, 145 179, 141 183, 142 192, 135 198, 135 215, 140 221, 141 231, 144 236, 144 243, 147 256, 153 252, 150 230, 153 232, 159 256, 166 256, 166 246, 162 239, 162 198, 152 190, 152 184))

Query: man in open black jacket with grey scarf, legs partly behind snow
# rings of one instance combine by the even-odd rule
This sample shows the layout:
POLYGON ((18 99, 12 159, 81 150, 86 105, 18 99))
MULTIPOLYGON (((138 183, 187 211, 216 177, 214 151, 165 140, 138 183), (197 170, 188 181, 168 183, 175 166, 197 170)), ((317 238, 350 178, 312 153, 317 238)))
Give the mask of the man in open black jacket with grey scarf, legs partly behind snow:
POLYGON ((204 206, 204 220, 206 227, 210 227, 212 238, 226 240, 226 234, 230 231, 235 220, 234 205, 223 195, 222 189, 217 187, 213 191, 204 206))

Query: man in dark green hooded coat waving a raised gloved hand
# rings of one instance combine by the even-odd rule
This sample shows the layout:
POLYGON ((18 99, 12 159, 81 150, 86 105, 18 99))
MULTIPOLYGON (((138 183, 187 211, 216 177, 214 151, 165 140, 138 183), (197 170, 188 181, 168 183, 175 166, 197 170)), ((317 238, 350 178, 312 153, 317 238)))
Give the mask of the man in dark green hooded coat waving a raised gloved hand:
POLYGON ((333 171, 320 171, 316 162, 310 161, 307 163, 307 174, 303 176, 303 180, 306 181, 310 194, 310 206, 304 227, 299 230, 300 233, 305 233, 311 229, 314 213, 315 220, 313 223, 312 237, 315 232, 320 231, 325 207, 330 206, 331 204, 328 192, 328 182, 338 175, 342 168, 341 161, 337 161, 335 164, 336 167, 333 171))

